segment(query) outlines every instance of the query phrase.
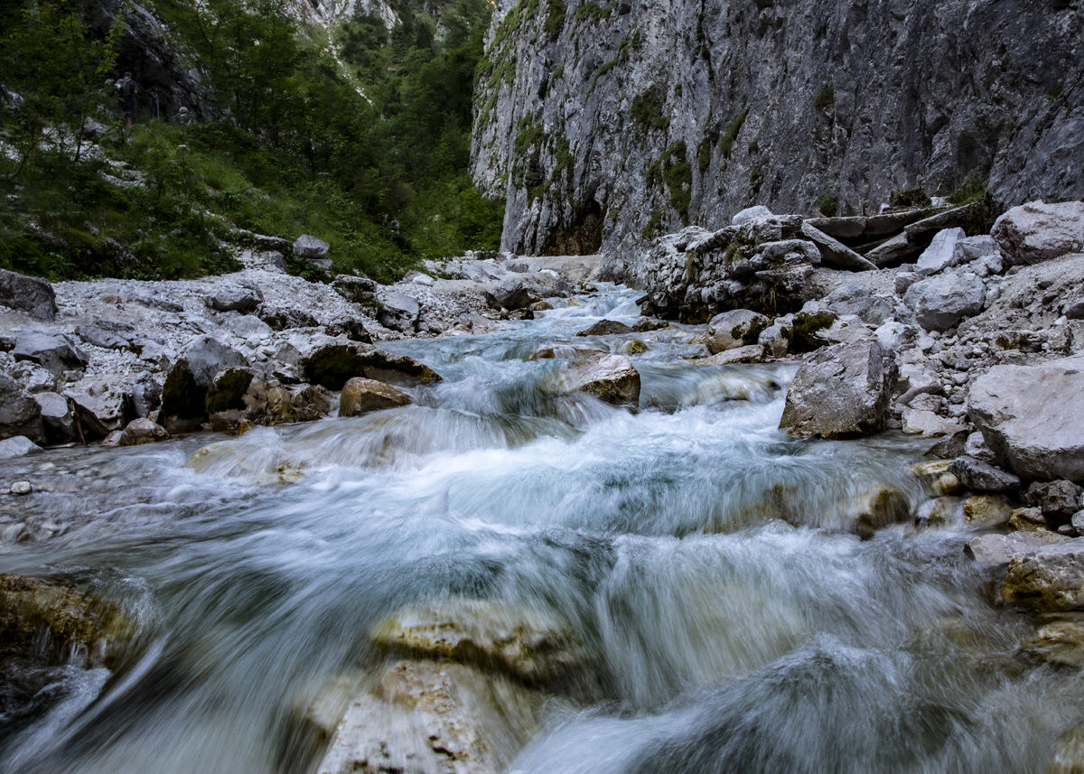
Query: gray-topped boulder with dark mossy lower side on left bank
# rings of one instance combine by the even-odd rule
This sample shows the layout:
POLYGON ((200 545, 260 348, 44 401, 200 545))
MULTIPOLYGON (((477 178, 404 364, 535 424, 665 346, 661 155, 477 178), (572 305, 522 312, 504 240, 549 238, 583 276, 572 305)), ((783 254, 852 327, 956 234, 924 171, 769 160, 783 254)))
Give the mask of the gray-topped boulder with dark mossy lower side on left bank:
POLYGON ((207 415, 207 390, 223 369, 243 367, 245 358, 214 336, 189 343, 166 375, 162 416, 171 431, 193 429, 207 415))

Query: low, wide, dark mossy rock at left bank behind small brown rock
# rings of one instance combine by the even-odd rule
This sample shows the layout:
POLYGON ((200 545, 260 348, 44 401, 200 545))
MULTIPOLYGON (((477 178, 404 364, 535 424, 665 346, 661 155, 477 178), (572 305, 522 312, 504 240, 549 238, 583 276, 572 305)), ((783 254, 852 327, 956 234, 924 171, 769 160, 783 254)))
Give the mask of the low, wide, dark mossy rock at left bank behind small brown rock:
POLYGON ((405 387, 440 380, 428 365, 405 354, 353 344, 320 347, 301 360, 300 367, 307 380, 333 390, 343 389, 354 376, 405 387))

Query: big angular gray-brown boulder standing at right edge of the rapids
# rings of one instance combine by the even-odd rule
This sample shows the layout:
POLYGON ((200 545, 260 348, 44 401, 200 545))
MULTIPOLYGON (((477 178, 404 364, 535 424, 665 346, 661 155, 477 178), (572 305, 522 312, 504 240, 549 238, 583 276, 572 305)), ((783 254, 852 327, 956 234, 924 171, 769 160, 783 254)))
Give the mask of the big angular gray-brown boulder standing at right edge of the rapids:
POLYGON ((876 340, 839 344, 802 361, 787 390, 780 429, 841 438, 885 428, 896 367, 876 340))

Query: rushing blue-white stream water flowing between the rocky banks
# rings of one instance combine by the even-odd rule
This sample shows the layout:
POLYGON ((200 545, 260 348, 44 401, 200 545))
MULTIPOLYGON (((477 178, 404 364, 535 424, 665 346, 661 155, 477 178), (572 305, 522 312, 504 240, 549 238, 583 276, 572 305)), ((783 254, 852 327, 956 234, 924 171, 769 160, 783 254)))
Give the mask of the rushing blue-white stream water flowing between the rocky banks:
POLYGON ((114 671, 8 669, 0 771, 307 771, 284 756, 299 692, 377 663, 375 621, 448 598, 544 612, 594 654, 516 771, 1044 771, 1080 680, 1011 657, 1033 630, 991 605, 972 533, 851 533, 855 494, 924 496, 924 448, 788 439, 795 366, 689 364, 692 327, 634 336, 636 413, 529 359, 632 322, 632 297, 389 345, 444 376, 412 407, 17 463, 60 534, 0 571, 78 578, 143 634, 114 671))

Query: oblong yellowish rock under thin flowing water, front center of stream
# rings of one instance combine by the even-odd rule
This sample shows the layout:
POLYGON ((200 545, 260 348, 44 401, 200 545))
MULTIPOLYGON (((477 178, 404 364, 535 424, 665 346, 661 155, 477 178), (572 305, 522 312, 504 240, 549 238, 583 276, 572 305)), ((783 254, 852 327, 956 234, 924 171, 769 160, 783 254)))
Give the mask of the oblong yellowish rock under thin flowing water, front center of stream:
POLYGON ((396 653, 493 669, 529 684, 555 684, 590 660, 567 621, 527 606, 447 599, 401 610, 370 638, 396 653))

